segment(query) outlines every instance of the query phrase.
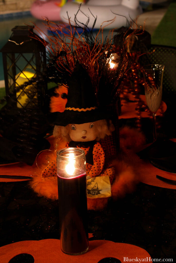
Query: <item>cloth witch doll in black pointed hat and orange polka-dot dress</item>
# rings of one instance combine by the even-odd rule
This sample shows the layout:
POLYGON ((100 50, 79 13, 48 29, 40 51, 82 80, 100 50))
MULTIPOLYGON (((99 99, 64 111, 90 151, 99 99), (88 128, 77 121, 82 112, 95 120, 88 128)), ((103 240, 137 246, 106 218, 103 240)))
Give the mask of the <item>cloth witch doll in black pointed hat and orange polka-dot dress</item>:
POLYGON ((65 111, 51 114, 55 120, 53 135, 65 137, 67 147, 85 151, 87 179, 107 175, 112 183, 114 169, 102 172, 105 154, 98 142, 114 131, 110 113, 98 107, 90 77, 82 65, 77 64, 68 86, 65 111))

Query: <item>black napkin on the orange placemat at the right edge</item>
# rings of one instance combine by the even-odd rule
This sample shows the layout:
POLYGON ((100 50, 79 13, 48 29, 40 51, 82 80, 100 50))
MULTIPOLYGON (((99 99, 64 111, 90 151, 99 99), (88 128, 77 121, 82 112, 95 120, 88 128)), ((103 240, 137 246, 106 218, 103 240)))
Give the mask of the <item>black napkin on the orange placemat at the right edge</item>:
POLYGON ((137 154, 140 159, 148 159, 153 166, 161 170, 176 173, 176 143, 169 139, 157 139, 137 154))

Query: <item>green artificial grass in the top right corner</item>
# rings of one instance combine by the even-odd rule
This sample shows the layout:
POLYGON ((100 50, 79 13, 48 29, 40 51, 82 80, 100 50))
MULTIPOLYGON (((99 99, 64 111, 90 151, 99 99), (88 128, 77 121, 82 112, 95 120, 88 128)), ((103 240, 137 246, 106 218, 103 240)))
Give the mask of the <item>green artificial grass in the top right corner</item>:
POLYGON ((151 44, 176 47, 176 2, 169 5, 151 36, 151 44))

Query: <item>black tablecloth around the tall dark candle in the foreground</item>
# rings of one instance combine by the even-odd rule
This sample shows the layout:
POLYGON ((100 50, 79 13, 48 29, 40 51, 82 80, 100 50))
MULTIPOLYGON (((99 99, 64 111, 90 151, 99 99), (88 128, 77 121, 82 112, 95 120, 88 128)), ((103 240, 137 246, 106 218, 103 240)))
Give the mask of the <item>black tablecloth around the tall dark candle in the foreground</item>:
MULTIPOLYGON (((38 197, 27 181, 0 183, 0 246, 22 240, 59 239, 57 201, 38 197)), ((91 240, 105 239, 144 248, 152 258, 173 259, 175 190, 139 184, 133 194, 104 211, 88 211, 91 240)))

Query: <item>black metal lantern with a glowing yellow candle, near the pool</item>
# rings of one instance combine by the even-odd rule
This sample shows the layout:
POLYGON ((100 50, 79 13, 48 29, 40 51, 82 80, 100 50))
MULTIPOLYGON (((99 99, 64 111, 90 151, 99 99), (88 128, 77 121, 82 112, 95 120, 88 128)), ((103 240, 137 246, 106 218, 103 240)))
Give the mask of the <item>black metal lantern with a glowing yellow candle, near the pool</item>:
POLYGON ((6 96, 13 98, 13 106, 17 108, 42 108, 47 84, 32 80, 39 77, 46 67, 43 40, 38 36, 41 41, 35 39, 33 27, 30 26, 15 26, 12 32, 1 49, 6 96), (25 82, 26 86, 20 87, 25 82))

